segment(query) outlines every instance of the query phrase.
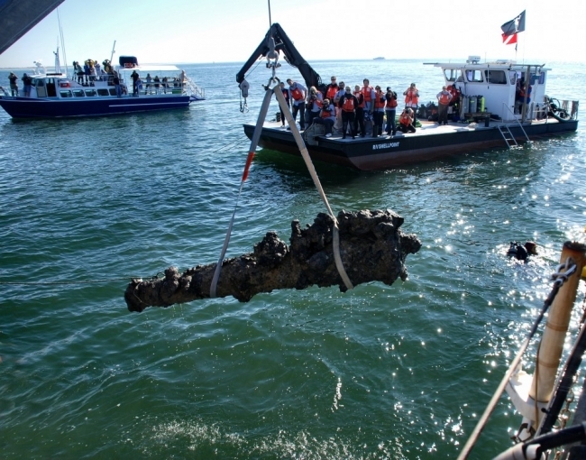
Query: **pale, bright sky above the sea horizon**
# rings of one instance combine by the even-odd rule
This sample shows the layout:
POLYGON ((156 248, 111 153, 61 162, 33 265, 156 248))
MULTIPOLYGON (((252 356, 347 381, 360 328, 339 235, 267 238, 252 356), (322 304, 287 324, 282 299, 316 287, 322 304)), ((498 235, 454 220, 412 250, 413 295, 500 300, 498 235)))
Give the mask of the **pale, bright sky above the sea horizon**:
MULTIPOLYGON (((581 0, 272 0, 270 8, 307 60, 585 60, 581 0), (515 45, 502 44, 500 25, 523 10, 516 55, 515 45)), ((59 7, 69 64, 109 59, 114 40, 115 61, 130 54, 141 63, 243 62, 269 28, 268 10, 267 0, 65 0, 59 7)), ((0 55, 0 68, 50 66, 59 35, 53 12, 0 55)))

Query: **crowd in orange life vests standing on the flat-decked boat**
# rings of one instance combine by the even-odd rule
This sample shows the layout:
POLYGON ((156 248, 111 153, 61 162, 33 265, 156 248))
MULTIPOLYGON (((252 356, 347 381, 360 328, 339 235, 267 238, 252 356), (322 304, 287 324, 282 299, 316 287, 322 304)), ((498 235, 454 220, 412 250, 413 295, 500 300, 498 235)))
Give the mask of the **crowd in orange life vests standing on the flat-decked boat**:
MULTIPOLYGON (((386 91, 378 85, 372 87, 368 78, 364 78, 362 87, 352 87, 343 81, 338 83, 337 78, 333 76, 324 92, 316 87, 307 89, 298 81, 288 78, 287 85, 284 82, 280 83, 280 90, 291 110, 294 122, 297 123, 299 115, 299 126, 302 131, 311 124, 323 124, 325 137, 331 137, 335 128, 342 132, 343 139, 347 134, 354 139, 359 134, 365 137, 367 130, 372 133, 372 137, 384 133, 392 137, 398 131, 415 133, 417 130, 419 90, 415 83, 411 83, 403 91, 404 108, 398 116, 398 94, 391 87, 387 87, 386 91)), ((436 97, 437 123, 448 124, 448 109, 459 100, 460 91, 455 85, 444 86, 436 97)), ((285 114, 280 106, 279 110, 280 121, 284 126, 285 114)))

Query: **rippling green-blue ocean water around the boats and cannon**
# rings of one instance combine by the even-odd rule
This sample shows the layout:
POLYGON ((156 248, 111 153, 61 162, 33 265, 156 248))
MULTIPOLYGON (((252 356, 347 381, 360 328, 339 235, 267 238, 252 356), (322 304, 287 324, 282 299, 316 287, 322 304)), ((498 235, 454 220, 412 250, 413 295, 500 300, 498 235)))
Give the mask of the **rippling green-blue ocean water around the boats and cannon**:
MULTIPOLYGON (((334 212, 390 208, 419 236, 405 282, 130 313, 130 277, 217 260, 250 145, 242 124, 256 120, 269 78, 262 61, 252 69, 241 113, 241 65, 185 66, 207 96, 186 110, 24 122, 0 112, 3 458, 444 459, 462 449, 563 242, 584 240, 584 126, 396 170, 316 163, 334 212), (539 254, 509 260, 508 243, 528 239, 539 254)), ((423 101, 442 85, 415 60, 312 65, 325 80, 401 91, 415 81, 423 101)), ((586 64, 550 67, 550 96, 586 100, 586 64)), ((299 78, 286 63, 278 75, 299 78)), ((319 212, 303 161, 261 151, 227 255, 270 230, 288 242, 291 220, 319 212)), ((508 448, 520 421, 503 396, 471 458, 508 448)))

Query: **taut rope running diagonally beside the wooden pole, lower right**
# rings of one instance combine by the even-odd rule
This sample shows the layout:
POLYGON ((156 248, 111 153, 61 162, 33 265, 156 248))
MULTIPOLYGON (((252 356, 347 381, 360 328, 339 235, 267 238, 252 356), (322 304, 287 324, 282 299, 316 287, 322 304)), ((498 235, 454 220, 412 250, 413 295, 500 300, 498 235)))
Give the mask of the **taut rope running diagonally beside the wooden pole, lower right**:
POLYGON ((478 421, 478 424, 476 425, 476 427, 472 431, 472 435, 470 436, 470 438, 466 442, 466 445, 463 447, 460 455, 458 455, 457 460, 464 460, 464 459, 468 458, 468 455, 470 455, 470 453, 472 451, 472 447, 474 446, 474 444, 476 444, 476 441, 478 441, 478 438, 481 436, 482 429, 486 426, 487 422, 489 421, 490 414, 492 414, 492 411, 495 409, 495 407, 497 406, 497 403, 499 402, 500 396, 502 395, 503 391, 505 391, 505 388, 507 387, 508 381, 510 380, 513 373, 515 373, 515 371, 517 370, 517 366, 521 362, 521 358, 523 357, 523 354, 525 354, 525 351, 526 351, 527 346, 529 345, 529 342, 531 341, 533 336, 536 335, 537 327, 539 327, 539 324, 543 320, 543 318, 545 316, 545 312, 554 302, 555 296, 557 295, 560 288, 563 286, 563 283, 565 281, 567 281, 568 276, 570 276, 574 271, 576 271, 576 264, 575 264, 575 262, 573 262, 571 257, 568 257, 566 259, 565 264, 560 264, 557 266, 557 271, 552 275, 552 279, 554 280, 554 287, 552 288, 549 295, 547 296, 547 299, 545 299, 544 306, 541 308, 541 311, 539 312, 539 316, 536 318, 536 321, 533 323, 533 327, 531 327, 531 331, 529 332, 528 336, 526 336, 526 339, 523 342, 523 344, 521 344, 521 348, 519 349, 517 355, 515 356, 515 359, 508 366, 507 373, 505 373, 505 376, 500 381, 499 387, 497 388, 497 391, 495 391, 494 394, 492 395, 492 398, 490 399, 489 405, 487 406, 486 409, 484 409, 484 413, 482 414, 481 419, 478 421), (566 269, 565 272, 561 272, 561 270, 563 268, 566 269))

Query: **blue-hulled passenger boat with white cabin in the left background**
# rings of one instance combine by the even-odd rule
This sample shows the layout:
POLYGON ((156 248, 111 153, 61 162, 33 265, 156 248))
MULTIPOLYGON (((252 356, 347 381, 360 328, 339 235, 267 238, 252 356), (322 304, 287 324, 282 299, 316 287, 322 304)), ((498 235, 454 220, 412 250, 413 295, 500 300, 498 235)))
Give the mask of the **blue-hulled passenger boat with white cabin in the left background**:
MULTIPOLYGON (((109 67, 109 61, 104 62, 109 67)), ((81 72, 80 72, 81 73, 81 72)), ((153 110, 188 107, 191 102, 205 99, 203 89, 175 66, 141 66, 133 56, 120 56, 119 65, 109 73, 72 75, 61 72, 59 50, 55 53, 55 71, 37 67, 32 78, 30 95, 25 96, 19 85, 17 97, 6 90, 0 106, 13 118, 64 118, 74 116, 119 115, 153 110), (142 87, 133 94, 133 71, 142 87), (120 79, 121 95, 116 94, 114 72, 120 79), (152 81, 147 84, 147 75, 152 81), (155 82, 155 77, 157 82, 155 82)))

